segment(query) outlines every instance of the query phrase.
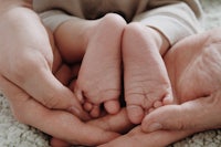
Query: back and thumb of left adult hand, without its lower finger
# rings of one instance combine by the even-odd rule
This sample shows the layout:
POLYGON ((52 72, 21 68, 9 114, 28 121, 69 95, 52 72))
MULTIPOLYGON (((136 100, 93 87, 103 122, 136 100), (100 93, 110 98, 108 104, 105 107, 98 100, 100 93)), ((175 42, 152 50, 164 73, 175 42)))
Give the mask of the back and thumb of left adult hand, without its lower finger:
MULTIPOLYGON (((12 2, 3 2, 1 9, 6 3, 12 2)), ((83 111, 73 93, 52 74, 53 52, 38 15, 15 6, 0 12, 3 20, 0 22, 0 90, 3 94, 20 99, 27 93, 49 108, 67 109, 81 116, 83 111), (21 92, 14 93, 14 88, 21 92)))

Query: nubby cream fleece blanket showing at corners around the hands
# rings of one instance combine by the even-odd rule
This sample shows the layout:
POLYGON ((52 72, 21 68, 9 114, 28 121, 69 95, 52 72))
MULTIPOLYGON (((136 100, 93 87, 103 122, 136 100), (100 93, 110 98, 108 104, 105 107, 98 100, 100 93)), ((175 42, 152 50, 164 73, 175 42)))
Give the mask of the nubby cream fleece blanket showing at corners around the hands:
MULTIPOLYGON (((221 27, 221 0, 201 0, 204 10, 202 27, 221 27)), ((160 140, 159 140, 160 141, 160 140)), ((0 94, 0 147, 49 147, 49 138, 40 130, 17 122, 9 103, 0 94)), ((221 147, 221 129, 196 134, 170 147, 221 147)))

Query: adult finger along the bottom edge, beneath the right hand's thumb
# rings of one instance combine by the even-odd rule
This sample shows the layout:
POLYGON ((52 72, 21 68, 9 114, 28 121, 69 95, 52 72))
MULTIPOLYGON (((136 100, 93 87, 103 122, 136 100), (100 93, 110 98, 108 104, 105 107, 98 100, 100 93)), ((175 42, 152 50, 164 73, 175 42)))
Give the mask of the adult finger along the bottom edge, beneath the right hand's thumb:
POLYGON ((192 134, 192 130, 157 130, 146 134, 140 126, 98 147, 165 147, 192 134))

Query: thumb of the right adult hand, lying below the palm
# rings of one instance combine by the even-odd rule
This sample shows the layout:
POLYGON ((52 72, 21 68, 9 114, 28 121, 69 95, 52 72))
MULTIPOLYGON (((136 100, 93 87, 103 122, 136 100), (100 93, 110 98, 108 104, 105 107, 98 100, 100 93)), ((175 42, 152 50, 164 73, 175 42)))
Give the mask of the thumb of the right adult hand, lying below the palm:
POLYGON ((221 124, 219 105, 211 97, 201 97, 181 105, 167 105, 148 114, 143 123, 144 132, 158 129, 194 129, 196 132, 215 128, 221 124))

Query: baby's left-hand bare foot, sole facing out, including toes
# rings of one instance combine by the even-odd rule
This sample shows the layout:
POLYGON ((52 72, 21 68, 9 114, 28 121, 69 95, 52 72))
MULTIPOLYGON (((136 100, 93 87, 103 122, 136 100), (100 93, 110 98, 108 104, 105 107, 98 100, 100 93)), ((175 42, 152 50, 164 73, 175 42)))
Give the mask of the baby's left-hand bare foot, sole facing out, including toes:
POLYGON ((107 14, 97 20, 88 38, 75 94, 93 117, 99 116, 101 104, 109 114, 120 108, 120 42, 124 25, 120 17, 107 14))

